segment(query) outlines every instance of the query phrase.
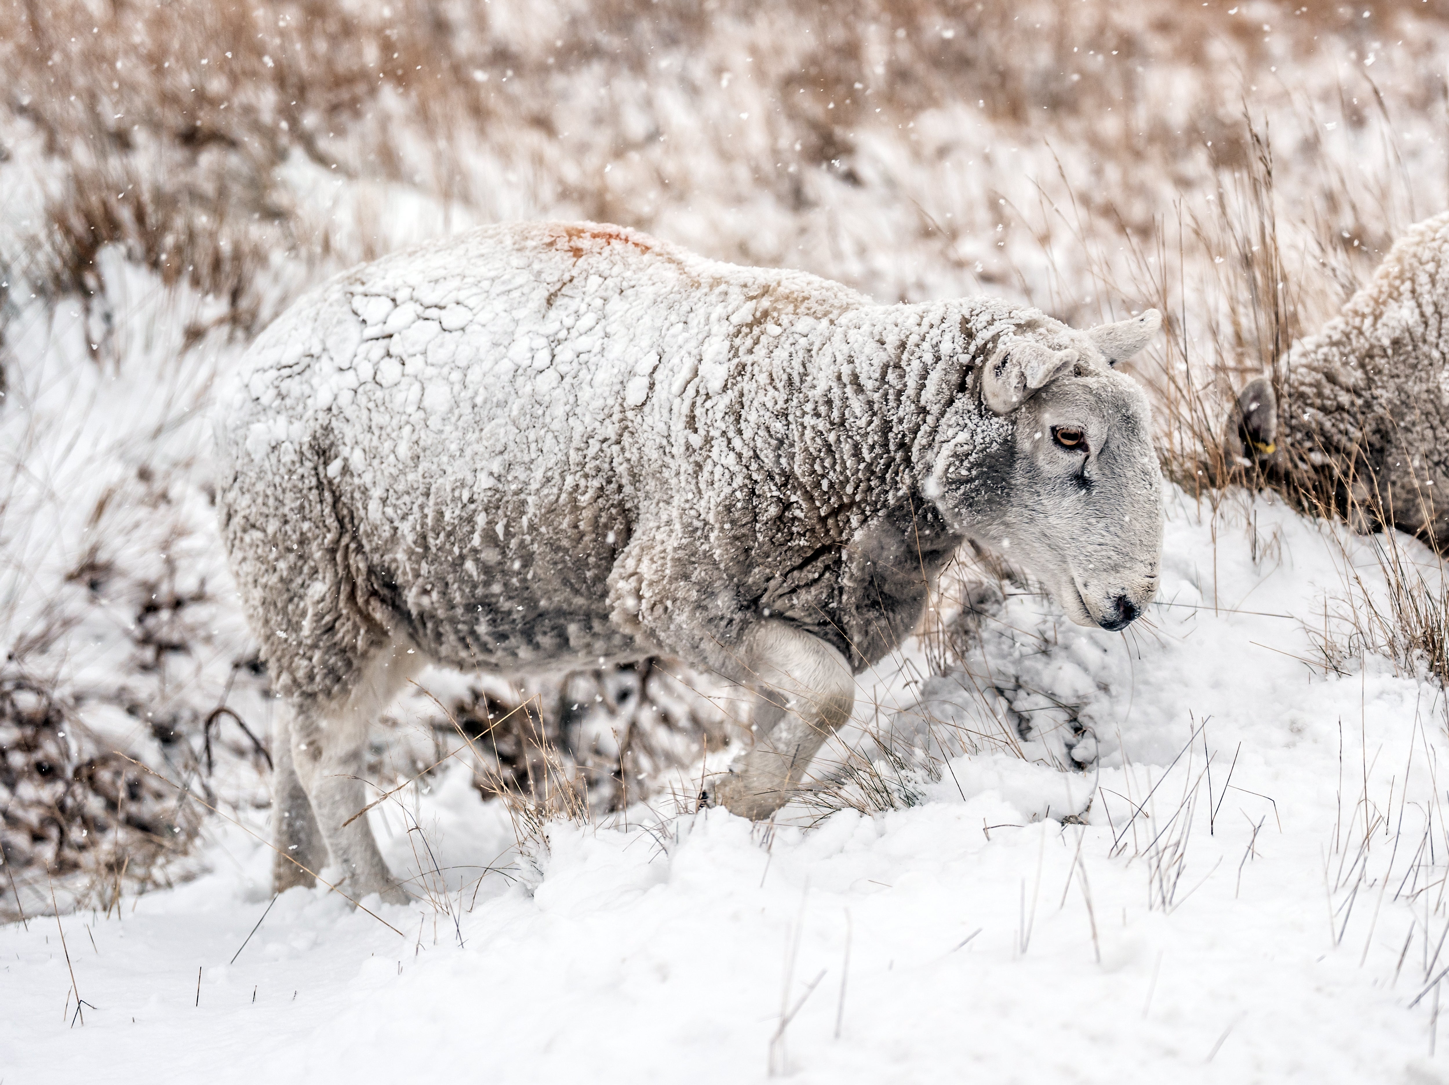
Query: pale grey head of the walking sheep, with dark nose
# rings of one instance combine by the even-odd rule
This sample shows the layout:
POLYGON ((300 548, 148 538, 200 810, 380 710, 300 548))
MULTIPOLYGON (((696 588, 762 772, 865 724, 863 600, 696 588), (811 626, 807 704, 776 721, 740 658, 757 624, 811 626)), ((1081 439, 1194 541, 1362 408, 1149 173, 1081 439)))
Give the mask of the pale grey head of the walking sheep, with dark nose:
POLYGON ((1039 319, 1007 335, 961 398, 995 417, 994 440, 962 414, 926 493, 953 530, 1039 577, 1068 617, 1122 629, 1158 588, 1162 477, 1148 400, 1113 366, 1161 326, 1133 320, 1075 332, 1039 319), (975 433, 971 433, 977 429, 975 433))

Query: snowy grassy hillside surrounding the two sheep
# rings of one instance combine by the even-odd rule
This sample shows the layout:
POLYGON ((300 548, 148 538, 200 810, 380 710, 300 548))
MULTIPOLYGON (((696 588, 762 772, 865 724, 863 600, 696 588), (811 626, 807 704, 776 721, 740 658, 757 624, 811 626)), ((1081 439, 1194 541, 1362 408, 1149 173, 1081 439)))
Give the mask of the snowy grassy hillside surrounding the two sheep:
POLYGON ((1436 4, 7 16, 0 1078, 1449 1081, 1439 559, 1216 439, 1449 206, 1436 4), (368 765, 416 902, 274 901, 212 390, 330 271, 546 217, 1161 309, 1158 601, 1087 630, 962 553, 756 827, 694 811, 710 675, 429 671, 368 765))

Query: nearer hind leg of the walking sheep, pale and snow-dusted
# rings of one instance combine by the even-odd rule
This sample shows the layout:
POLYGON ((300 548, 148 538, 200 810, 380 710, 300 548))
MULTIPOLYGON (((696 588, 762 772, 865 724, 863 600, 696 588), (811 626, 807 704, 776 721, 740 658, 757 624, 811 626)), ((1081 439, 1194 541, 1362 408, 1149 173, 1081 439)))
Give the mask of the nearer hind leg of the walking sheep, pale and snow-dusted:
POLYGON ((377 892, 387 904, 407 902, 407 892, 388 874, 368 818, 361 814, 369 801, 362 755, 374 717, 422 662, 420 655, 406 655, 401 648, 384 650, 364 668, 342 704, 301 708, 293 716, 293 763, 332 863, 342 868, 338 888, 354 901, 377 892))

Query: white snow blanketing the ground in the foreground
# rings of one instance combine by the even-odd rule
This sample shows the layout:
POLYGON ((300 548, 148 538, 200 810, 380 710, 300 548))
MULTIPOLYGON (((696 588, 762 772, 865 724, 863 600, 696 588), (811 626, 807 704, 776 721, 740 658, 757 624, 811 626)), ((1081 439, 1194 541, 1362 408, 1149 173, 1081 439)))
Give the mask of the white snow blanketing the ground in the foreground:
MULTIPOLYGON (((981 620, 977 681, 1068 705, 1084 771, 1049 736, 978 743, 914 771, 907 808, 636 807, 520 860, 458 766, 372 814, 394 871, 451 897, 371 914, 272 902, 265 814, 213 818, 210 874, 0 929, 0 1076, 1449 1081, 1443 692, 1317 662, 1346 564, 1377 591, 1375 540, 1264 498, 1169 506, 1151 626, 1011 592, 981 620)), ((861 700, 909 730, 901 674, 861 700)), ((948 747, 1007 711, 948 687, 924 687, 948 747)))

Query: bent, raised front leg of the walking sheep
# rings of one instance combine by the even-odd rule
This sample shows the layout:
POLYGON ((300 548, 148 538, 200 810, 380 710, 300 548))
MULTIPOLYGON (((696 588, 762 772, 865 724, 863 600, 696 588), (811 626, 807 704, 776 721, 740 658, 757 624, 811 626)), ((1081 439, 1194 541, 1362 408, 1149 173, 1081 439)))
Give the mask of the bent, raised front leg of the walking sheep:
POLYGON ((707 798, 761 820, 794 797, 816 752, 851 719, 855 675, 832 645, 784 621, 755 626, 740 662, 756 694, 755 745, 707 798))

